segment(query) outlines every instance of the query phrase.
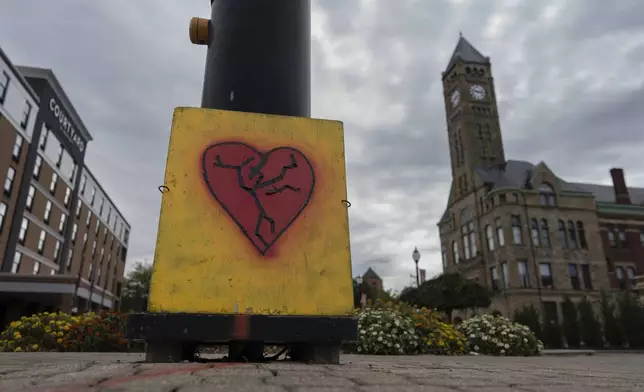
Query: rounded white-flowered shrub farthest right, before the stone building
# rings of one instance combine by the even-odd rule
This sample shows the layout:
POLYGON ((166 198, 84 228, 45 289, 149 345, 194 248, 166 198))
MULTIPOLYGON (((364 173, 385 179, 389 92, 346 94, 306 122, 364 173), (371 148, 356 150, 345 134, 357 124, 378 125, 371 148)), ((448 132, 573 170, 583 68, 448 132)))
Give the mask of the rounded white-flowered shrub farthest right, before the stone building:
POLYGON ((458 330, 465 335, 472 354, 531 356, 539 355, 543 349, 528 327, 505 317, 475 316, 463 321, 458 330))

